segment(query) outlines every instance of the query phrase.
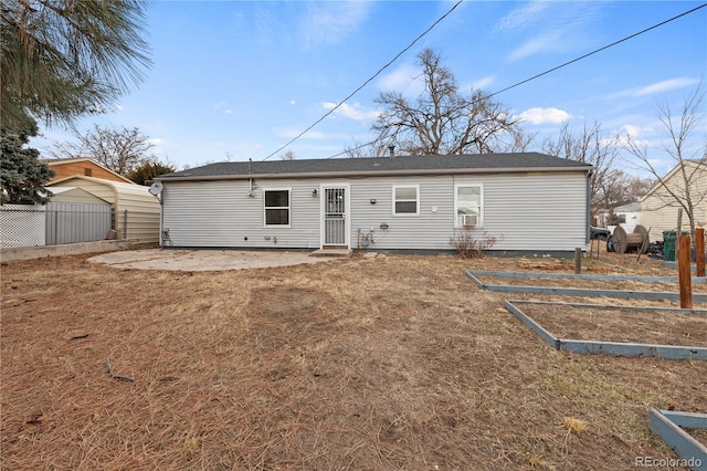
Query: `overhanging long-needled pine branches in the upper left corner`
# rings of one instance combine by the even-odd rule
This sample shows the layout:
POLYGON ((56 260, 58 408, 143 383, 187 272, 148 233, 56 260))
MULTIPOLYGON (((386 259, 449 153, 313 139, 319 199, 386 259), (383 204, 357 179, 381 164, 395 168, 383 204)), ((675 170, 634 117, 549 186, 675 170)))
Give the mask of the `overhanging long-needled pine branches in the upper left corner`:
POLYGON ((150 65, 145 8, 144 0, 2 0, 2 122, 71 124, 112 106, 150 65))

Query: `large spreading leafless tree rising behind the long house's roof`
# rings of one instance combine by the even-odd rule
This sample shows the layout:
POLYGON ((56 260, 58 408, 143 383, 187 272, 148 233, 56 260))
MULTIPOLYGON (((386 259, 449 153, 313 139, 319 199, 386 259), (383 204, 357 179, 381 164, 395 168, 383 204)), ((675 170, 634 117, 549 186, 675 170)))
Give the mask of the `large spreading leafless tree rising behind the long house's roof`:
POLYGON ((371 128, 383 148, 393 145, 408 155, 486 154, 506 151, 524 140, 518 137, 520 118, 481 90, 463 96, 437 53, 425 49, 418 62, 424 92, 414 102, 399 92, 382 92, 376 98, 384 111, 371 128))

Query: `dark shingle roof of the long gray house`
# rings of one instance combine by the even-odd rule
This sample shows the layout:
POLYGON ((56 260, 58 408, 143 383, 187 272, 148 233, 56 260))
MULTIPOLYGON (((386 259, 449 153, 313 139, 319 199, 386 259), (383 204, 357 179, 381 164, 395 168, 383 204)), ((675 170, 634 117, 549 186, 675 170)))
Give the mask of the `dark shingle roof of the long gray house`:
POLYGON ((156 180, 312 178, 383 175, 589 171, 592 166, 539 153, 226 161, 161 175, 156 180))

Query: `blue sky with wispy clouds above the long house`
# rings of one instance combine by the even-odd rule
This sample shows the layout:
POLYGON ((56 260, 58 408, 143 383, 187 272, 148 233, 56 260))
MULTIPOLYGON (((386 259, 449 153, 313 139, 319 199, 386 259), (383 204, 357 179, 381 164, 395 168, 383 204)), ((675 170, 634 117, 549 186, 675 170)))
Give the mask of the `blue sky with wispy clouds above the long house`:
MULTIPOLYGON (((407 48, 455 1, 154 1, 147 80, 105 115, 78 122, 138 127, 178 168, 262 160, 319 119, 407 48)), ((496 92, 699 7, 695 1, 471 1, 310 132, 270 159, 326 158, 372 140, 381 91, 420 92, 415 55, 431 48, 468 94, 496 92)), ((707 75, 707 8, 496 95, 539 133, 562 122, 598 122, 606 135, 630 132, 648 145, 665 133, 665 101, 679 114, 707 75)), ((703 85, 707 88, 707 84, 703 85)), ((707 114, 707 109, 705 109, 707 114)), ((707 140, 707 129, 701 129, 707 140)), ((42 129, 40 150, 72 140, 42 129)), ((656 160, 657 150, 651 150, 656 160)), ((629 161, 621 164, 632 172, 629 161)), ((662 169, 671 164, 663 160, 662 169)))

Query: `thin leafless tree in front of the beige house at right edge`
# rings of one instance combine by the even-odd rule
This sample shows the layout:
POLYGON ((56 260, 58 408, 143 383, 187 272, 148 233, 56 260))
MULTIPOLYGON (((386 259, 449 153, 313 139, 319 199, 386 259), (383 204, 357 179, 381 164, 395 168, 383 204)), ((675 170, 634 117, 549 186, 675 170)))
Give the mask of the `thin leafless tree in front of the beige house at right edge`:
MULTIPOLYGON (((661 149, 665 151, 677 169, 678 184, 671 184, 666 175, 661 175, 653 165, 648 146, 629 138, 627 150, 656 179, 655 193, 663 207, 682 208, 689 220, 689 230, 695 240, 695 227, 698 226, 695 209, 707 201, 707 139, 705 138, 705 94, 701 84, 688 95, 679 116, 675 116, 667 102, 658 104, 657 117, 663 124, 666 139, 661 149)), ((672 172, 671 172, 672 174, 672 172)), ((668 174, 669 175, 669 174, 668 174)))

